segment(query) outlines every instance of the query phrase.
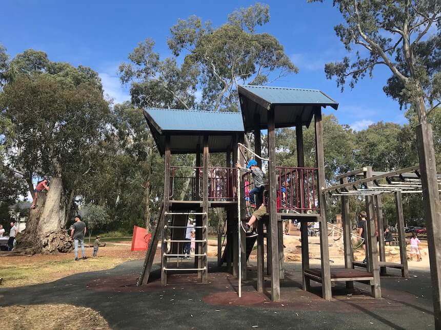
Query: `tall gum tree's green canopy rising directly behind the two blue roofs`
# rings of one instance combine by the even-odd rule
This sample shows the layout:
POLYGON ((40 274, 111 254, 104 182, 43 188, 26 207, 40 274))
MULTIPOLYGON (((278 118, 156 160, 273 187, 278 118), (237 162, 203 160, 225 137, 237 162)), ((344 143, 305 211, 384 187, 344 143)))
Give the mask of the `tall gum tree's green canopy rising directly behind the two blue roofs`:
POLYGON ((268 6, 258 3, 236 10, 218 28, 196 16, 179 19, 168 39, 174 57, 165 60, 153 51, 153 40, 139 43, 129 54, 130 63, 119 67, 121 80, 131 82, 132 103, 237 111, 238 82, 264 84, 297 72, 274 36, 254 33, 268 21, 268 6), (181 54, 185 57, 179 67, 176 58, 181 54), (202 91, 200 101, 197 90, 202 91))

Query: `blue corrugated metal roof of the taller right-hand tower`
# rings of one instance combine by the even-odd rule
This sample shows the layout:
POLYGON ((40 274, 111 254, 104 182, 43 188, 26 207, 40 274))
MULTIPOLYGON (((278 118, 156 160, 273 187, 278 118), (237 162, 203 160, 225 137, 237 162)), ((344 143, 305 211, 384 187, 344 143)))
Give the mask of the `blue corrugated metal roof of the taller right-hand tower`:
POLYGON ((317 104, 338 107, 338 103, 318 90, 288 87, 240 85, 270 104, 317 104))

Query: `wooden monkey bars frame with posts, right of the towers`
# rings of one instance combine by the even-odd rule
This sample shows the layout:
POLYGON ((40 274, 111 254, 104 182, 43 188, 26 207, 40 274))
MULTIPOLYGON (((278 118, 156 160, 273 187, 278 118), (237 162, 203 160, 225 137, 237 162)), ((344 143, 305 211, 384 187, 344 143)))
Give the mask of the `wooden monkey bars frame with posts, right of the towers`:
MULTIPOLYGON (((388 268, 394 268, 401 270, 402 277, 409 277, 402 195, 422 193, 422 182, 420 180, 420 176, 418 165, 391 172, 373 171, 372 167, 368 166, 337 175, 336 179, 340 181, 340 184, 325 189, 325 191, 327 191, 330 195, 341 196, 342 199, 342 221, 344 228, 343 236, 346 267, 353 268, 356 266, 367 268, 368 270, 379 267, 380 275, 382 276, 387 275, 388 268), (358 179, 357 177, 363 177, 363 179, 358 179), (350 178, 351 181, 349 180, 350 178), (386 261, 384 240, 385 226, 383 221, 382 207, 383 194, 394 194, 400 263, 386 261), (349 196, 363 196, 366 199, 368 219, 374 223, 374 228, 377 229, 378 233, 379 261, 378 256, 373 256, 372 260, 371 258, 368 258, 367 263, 353 260, 353 251, 350 239, 351 221, 348 217, 349 196), (378 265, 376 265, 375 261, 378 262, 378 265)), ((441 185, 441 177, 439 178, 438 189, 439 185, 441 185)), ((370 244, 370 240, 367 241, 367 244, 370 244)), ((368 253, 369 252, 370 249, 368 249, 368 253)))

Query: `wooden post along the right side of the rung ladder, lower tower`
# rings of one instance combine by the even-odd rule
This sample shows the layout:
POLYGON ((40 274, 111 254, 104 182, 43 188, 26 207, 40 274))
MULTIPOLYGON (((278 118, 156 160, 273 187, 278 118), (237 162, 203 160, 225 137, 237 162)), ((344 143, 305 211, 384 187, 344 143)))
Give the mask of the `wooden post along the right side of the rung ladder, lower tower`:
POLYGON ((202 282, 208 283, 208 135, 204 136, 204 170, 203 170, 203 199, 202 199, 202 212, 204 213, 202 215, 202 226, 204 227, 202 229, 203 232, 203 239, 205 240, 204 243, 202 243, 202 253, 204 256, 202 256, 202 268, 205 267, 205 271, 202 271, 202 282))

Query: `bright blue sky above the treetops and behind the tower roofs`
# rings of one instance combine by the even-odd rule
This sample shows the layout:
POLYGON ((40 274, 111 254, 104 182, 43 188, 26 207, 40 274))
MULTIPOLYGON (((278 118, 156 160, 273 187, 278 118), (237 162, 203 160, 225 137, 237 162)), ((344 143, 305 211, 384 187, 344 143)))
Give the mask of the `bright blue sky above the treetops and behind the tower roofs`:
MULTIPOLYGON (((262 1, 263 2, 263 1, 262 1)), ((374 71, 374 78, 359 81, 344 93, 327 80, 324 64, 347 54, 333 27, 342 19, 332 1, 308 4, 307 0, 267 1, 270 23, 257 32, 273 34, 300 69, 272 85, 312 88, 324 91, 340 104, 334 113, 339 122, 362 129, 380 120, 403 124, 404 112, 386 97, 383 85, 390 76, 387 68, 374 71)), ((0 43, 14 56, 26 49, 45 51, 53 61, 88 65, 99 73, 107 94, 121 102, 129 98, 117 77, 119 63, 139 41, 151 37, 162 58, 170 56, 167 37, 178 18, 197 15, 214 26, 225 23, 227 15, 253 1, 114 1, 97 0, 9 1, 3 3, 0 43)))

